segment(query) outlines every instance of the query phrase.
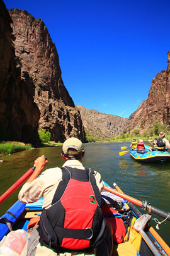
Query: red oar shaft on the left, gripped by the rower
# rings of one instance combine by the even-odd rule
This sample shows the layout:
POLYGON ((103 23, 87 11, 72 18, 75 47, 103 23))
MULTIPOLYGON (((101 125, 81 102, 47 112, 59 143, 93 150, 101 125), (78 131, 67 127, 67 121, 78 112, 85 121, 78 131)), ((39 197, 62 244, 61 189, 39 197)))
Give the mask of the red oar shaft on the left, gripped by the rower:
MULTIPOLYGON (((47 160, 47 157, 45 157, 45 159, 47 160)), ((21 176, 18 181, 16 181, 10 188, 8 188, 8 190, 6 190, 3 195, 1 195, 0 204, 2 204, 2 202, 4 202, 4 200, 6 200, 9 195, 11 195, 17 188, 19 188, 19 186, 21 186, 21 184, 23 184, 31 176, 34 170, 35 166, 31 167, 25 174, 23 174, 23 176, 21 176)))

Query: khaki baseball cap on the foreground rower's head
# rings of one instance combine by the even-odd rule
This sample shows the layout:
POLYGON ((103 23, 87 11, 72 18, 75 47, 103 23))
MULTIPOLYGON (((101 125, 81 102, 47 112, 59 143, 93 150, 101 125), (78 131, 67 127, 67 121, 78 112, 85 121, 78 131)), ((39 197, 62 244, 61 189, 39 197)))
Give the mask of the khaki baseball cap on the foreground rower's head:
POLYGON ((78 138, 68 138, 65 140, 65 142, 62 145, 62 151, 65 155, 69 155, 68 150, 69 149, 76 149, 76 151, 72 151, 71 155, 79 155, 82 152, 84 152, 84 149, 82 148, 82 142, 78 138))

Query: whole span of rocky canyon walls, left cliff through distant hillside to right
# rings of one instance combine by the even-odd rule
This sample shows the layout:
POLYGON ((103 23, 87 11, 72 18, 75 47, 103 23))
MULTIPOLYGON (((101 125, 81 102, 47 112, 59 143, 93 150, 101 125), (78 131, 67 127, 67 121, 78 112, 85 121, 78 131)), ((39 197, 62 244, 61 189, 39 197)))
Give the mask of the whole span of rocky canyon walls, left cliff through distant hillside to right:
POLYGON ((154 121, 170 125, 170 51, 167 70, 152 80, 148 99, 129 119, 75 106, 62 81, 59 56, 47 27, 27 11, 6 9, 0 0, 0 141, 40 142, 38 129, 63 142, 86 133, 116 137, 123 131, 144 131, 154 121), (86 133, 85 133, 86 131, 86 133))

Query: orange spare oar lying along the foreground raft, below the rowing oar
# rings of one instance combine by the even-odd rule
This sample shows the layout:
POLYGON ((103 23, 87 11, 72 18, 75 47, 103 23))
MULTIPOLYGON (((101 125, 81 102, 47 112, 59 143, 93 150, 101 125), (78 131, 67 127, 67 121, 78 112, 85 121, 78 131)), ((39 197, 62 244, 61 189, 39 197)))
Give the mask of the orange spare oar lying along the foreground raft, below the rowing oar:
MULTIPOLYGON (((119 192, 123 193, 123 191, 120 189, 120 187, 118 185, 116 185, 116 183, 113 183, 113 186, 115 186, 116 190, 118 190, 119 192)), ((131 202, 128 203, 128 205, 125 203, 125 206, 127 207, 127 209, 130 208, 133 210, 133 212, 135 212, 135 214, 140 217, 142 216, 141 212, 139 211, 139 209, 137 209, 135 207, 134 204, 132 204, 131 202)), ((166 244, 166 242, 164 240, 162 240, 161 236, 159 236, 157 234, 157 232, 155 231, 154 228, 152 228, 152 226, 150 226, 149 223, 147 223, 149 232, 152 234, 152 236, 154 236, 154 238, 158 241, 159 245, 161 245, 161 247, 163 248, 163 250, 167 253, 167 255, 170 255, 170 248, 169 246, 166 244)))

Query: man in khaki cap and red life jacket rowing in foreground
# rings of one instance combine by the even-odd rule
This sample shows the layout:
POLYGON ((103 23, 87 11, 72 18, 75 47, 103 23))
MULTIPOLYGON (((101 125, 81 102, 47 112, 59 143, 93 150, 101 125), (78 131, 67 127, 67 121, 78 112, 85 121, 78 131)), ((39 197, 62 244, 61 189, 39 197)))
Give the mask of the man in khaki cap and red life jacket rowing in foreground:
POLYGON ((113 237, 101 210, 104 183, 97 171, 82 165, 81 140, 65 140, 61 168, 41 171, 44 155, 35 160, 35 171, 20 190, 20 202, 43 197, 43 210, 28 241, 27 255, 110 256, 113 237), (40 175, 40 176, 39 176, 40 175))

